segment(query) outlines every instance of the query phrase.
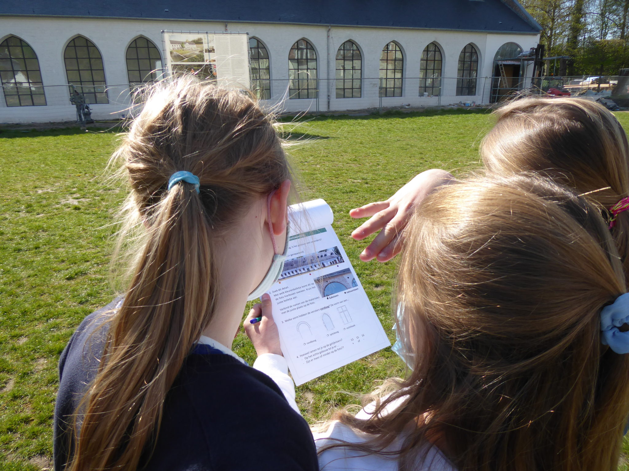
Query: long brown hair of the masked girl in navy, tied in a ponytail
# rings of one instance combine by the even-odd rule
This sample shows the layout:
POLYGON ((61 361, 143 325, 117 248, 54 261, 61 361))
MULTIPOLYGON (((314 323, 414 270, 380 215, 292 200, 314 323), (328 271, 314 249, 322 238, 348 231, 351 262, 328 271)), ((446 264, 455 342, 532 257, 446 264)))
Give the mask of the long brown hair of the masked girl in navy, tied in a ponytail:
POLYGON ((191 80, 153 91, 115 157, 130 181, 126 219, 145 229, 77 408, 70 471, 145 462, 166 395, 214 313, 216 239, 290 178, 273 123, 250 97, 191 80), (167 189, 184 170, 199 177, 200 192, 187 181, 167 189))

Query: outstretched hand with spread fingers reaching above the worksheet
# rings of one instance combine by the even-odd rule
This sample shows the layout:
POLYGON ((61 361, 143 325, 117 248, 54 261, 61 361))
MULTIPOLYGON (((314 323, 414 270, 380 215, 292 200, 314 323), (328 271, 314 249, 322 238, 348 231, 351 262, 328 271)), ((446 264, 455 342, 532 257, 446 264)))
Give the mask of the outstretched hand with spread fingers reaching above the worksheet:
POLYGON ((368 262, 376 258, 379 262, 387 262, 401 250, 401 235, 409 218, 421 202, 435 188, 454 182, 454 176, 445 170, 426 170, 415 176, 386 201, 369 203, 350 210, 354 219, 370 217, 352 232, 352 237, 362 241, 367 236, 380 230, 380 234, 365 247, 360 259, 368 262))

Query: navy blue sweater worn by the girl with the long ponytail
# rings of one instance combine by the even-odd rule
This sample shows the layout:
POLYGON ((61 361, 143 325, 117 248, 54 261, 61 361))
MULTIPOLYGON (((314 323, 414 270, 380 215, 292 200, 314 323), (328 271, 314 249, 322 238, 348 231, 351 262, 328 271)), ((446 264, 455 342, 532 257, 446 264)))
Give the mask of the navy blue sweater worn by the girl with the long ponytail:
MULTIPOLYGON (((55 471, 69 456, 69 418, 97 371, 113 303, 89 316, 59 361, 55 471), (96 330, 96 334, 91 335, 96 330)), ((318 470, 306 421, 269 376, 214 349, 188 355, 164 403, 150 471, 318 470)))

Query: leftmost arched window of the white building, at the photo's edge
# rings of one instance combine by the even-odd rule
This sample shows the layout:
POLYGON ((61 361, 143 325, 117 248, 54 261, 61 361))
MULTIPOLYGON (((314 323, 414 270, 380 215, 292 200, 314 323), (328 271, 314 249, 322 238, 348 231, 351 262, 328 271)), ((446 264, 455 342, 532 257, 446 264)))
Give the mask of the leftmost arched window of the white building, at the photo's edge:
POLYGON ((37 55, 16 36, 0 43, 0 80, 6 106, 46 106, 37 55))

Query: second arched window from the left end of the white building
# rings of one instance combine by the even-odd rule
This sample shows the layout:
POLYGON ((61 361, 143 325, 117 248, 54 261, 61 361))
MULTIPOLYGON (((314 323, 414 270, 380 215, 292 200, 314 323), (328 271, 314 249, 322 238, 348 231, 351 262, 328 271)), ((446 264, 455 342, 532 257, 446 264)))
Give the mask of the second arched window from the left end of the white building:
POLYGON ((74 38, 65 48, 64 60, 68 83, 84 95, 86 103, 109 103, 103 57, 92 41, 83 36, 74 38))

